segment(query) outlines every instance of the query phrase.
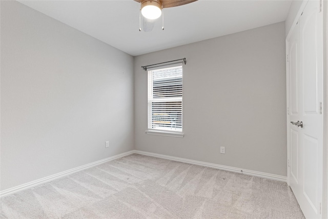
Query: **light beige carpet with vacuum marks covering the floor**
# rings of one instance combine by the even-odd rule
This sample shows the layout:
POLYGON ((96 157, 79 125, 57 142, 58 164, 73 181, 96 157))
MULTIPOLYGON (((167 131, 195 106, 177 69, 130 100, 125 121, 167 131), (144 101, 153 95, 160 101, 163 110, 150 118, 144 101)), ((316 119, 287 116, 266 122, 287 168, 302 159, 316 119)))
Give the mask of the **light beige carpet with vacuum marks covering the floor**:
POLYGON ((281 182, 132 154, 1 198, 1 218, 304 218, 281 182))

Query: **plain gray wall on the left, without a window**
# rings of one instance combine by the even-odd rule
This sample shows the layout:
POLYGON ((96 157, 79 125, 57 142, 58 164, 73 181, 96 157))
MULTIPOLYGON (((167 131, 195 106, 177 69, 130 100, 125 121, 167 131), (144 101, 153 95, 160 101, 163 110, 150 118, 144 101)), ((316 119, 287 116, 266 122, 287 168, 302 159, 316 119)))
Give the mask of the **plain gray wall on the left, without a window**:
POLYGON ((1 1, 1 190, 132 150, 133 107, 132 56, 1 1))

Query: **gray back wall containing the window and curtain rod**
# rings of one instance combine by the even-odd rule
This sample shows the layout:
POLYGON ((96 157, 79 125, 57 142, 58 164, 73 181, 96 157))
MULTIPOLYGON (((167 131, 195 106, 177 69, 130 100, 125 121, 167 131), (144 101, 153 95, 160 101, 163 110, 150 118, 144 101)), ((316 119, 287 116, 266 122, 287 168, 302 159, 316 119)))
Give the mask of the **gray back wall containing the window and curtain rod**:
POLYGON ((286 176, 284 22, 134 61, 136 150, 286 176), (185 137, 148 135, 147 72, 140 66, 182 57, 185 137))

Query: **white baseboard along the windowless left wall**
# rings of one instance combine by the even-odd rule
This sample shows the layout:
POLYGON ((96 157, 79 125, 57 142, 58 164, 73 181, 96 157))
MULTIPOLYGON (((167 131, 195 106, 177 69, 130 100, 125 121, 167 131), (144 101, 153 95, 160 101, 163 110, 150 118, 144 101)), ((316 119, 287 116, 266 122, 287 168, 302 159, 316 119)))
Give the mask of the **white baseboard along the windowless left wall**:
POLYGON ((133 154, 133 153, 134 153, 134 150, 131 150, 131 151, 128 151, 128 152, 125 152, 125 153, 121 153, 121 154, 117 154, 115 156, 105 158, 105 159, 100 160, 100 161, 96 161, 96 162, 93 162, 93 163, 90 163, 90 164, 86 164, 86 165, 83 165, 83 166, 80 166, 80 167, 76 167, 76 168, 73 168, 73 169, 70 169, 70 170, 66 170, 64 172, 60 172, 60 173, 56 173, 56 174, 53 174, 53 175, 50 175, 50 176, 47 176, 47 177, 44 177, 44 178, 40 178, 39 180, 35 180, 35 181, 29 182, 29 183, 26 183, 26 184, 23 184, 23 185, 20 185, 20 186, 12 187, 10 189, 0 191, 0 197, 4 197, 4 196, 10 195, 10 194, 14 194, 16 192, 23 191, 25 189, 29 189, 29 188, 32 188, 32 187, 35 187, 35 186, 38 186, 38 185, 41 185, 41 184, 44 184, 44 183, 48 183, 50 181, 56 180, 57 178, 61 178, 61 177, 70 175, 72 173, 75 173, 75 172, 78 172, 78 171, 81 171, 81 170, 85 170, 85 169, 88 169, 90 167, 94 167, 94 166, 97 166, 99 164, 103 164, 105 162, 112 161, 112 160, 115 160, 115 159, 118 159, 120 157, 130 155, 130 154, 133 154))

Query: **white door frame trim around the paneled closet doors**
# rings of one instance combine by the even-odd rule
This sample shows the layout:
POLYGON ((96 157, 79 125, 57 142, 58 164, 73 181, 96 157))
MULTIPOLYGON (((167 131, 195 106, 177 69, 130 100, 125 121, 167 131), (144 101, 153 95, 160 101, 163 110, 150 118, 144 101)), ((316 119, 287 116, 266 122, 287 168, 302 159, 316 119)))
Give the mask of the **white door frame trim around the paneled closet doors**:
MULTIPOLYGON (((288 35, 286 36, 286 54, 288 54, 288 48, 289 43, 288 39, 290 38, 292 34, 292 30, 295 28, 296 24, 298 23, 298 20, 306 6, 309 0, 304 0, 295 16, 294 22, 291 26, 291 29, 288 32, 288 35)), ((322 154, 322 209, 321 209, 321 216, 322 218, 328 218, 328 1, 322 2, 322 12, 323 12, 323 109, 322 109, 322 115, 323 115, 323 154, 322 154)), ((287 95, 287 103, 289 103, 289 95, 288 95, 288 89, 289 89, 289 66, 287 62, 286 57, 286 95, 287 95)), ((288 122, 288 113, 289 109, 286 109, 286 122, 288 122)), ((288 128, 289 124, 287 124, 287 184, 290 186, 290 130, 288 128)))

